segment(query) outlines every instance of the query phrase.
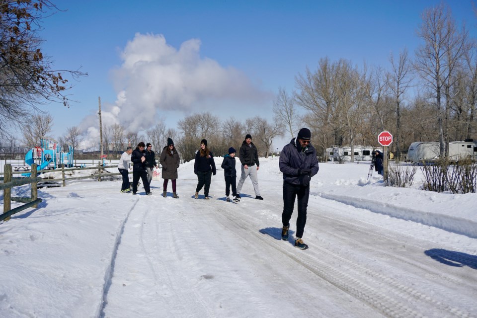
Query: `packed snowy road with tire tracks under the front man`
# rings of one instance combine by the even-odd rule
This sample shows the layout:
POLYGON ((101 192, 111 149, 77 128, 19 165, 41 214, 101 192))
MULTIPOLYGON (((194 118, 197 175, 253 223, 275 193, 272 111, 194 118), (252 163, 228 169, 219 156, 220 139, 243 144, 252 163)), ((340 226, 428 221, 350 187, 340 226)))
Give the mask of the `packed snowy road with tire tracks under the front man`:
MULTIPOLYGON (((181 180, 181 193, 192 194, 194 186, 194 179, 181 180)), ((267 197, 278 198, 279 191, 276 185, 268 192, 277 195, 267 197)), ((477 312, 475 259, 464 267, 436 261, 460 255, 459 246, 446 244, 445 237, 433 239, 442 230, 394 220, 409 223, 408 231, 395 231, 383 226, 387 216, 312 196, 304 237, 310 249, 302 251, 292 238, 280 239, 280 200, 222 199, 135 197, 101 316, 474 317, 477 312)), ((462 255, 461 262, 469 261, 462 255)))

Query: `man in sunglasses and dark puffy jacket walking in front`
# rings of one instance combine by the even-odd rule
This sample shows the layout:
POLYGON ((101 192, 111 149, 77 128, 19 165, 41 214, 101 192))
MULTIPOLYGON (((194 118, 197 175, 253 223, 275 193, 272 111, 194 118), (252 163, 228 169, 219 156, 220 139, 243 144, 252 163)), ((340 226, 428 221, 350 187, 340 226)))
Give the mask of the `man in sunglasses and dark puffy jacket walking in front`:
POLYGON ((303 242, 303 232, 307 223, 310 180, 318 173, 317 151, 310 144, 312 134, 308 128, 302 128, 297 138, 283 147, 280 153, 279 167, 283 172, 283 213, 282 239, 288 240, 290 219, 293 214, 295 198, 298 198, 298 218, 295 246, 307 249, 303 242))

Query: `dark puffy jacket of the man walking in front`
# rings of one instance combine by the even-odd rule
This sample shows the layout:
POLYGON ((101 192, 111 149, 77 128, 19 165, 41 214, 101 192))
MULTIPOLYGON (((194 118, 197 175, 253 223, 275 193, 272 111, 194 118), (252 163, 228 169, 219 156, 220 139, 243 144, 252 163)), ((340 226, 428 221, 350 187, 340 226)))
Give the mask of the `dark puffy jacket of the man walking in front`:
POLYGON ((310 177, 318 173, 318 157, 315 147, 308 144, 305 152, 297 144, 296 138, 292 139, 288 145, 283 147, 280 153, 279 167, 283 172, 283 180, 297 185, 303 185, 304 174, 299 174, 301 169, 311 169, 310 177))

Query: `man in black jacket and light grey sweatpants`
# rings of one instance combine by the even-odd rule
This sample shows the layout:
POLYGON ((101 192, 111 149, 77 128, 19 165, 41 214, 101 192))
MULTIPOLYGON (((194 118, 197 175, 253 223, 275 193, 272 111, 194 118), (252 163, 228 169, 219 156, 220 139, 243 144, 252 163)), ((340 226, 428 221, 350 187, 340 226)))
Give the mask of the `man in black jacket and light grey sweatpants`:
POLYGON ((258 190, 258 169, 260 162, 258 161, 258 152, 255 145, 252 143, 252 136, 247 134, 242 146, 239 150, 239 159, 242 164, 239 185, 237 186, 237 197, 240 198, 240 191, 242 190, 243 182, 249 176, 252 180, 253 190, 255 191, 255 199, 263 200, 258 190), (255 167, 256 165, 256 167, 255 167))

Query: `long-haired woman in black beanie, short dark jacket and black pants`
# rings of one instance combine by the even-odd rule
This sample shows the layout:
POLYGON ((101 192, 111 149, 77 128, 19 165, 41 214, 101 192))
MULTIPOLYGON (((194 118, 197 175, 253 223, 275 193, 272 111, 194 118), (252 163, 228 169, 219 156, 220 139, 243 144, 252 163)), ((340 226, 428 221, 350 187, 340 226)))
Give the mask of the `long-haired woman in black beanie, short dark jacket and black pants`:
POLYGON ((212 174, 216 174, 214 155, 207 148, 207 140, 202 139, 200 150, 195 154, 194 173, 199 182, 195 189, 195 198, 199 198, 199 191, 204 187, 204 199, 209 200, 209 188, 212 174))

